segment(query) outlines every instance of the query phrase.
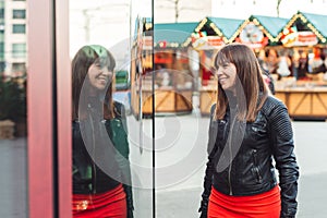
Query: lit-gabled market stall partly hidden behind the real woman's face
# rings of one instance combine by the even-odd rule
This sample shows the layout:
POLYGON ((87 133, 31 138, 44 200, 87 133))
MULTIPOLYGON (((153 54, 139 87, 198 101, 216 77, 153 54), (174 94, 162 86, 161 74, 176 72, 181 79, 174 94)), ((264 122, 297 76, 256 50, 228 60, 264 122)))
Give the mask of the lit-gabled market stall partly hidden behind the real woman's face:
POLYGON ((202 116, 210 113, 211 105, 217 98, 217 78, 213 73, 213 57, 222 45, 234 40, 234 32, 243 20, 205 17, 196 26, 192 46, 198 52, 198 93, 202 116))

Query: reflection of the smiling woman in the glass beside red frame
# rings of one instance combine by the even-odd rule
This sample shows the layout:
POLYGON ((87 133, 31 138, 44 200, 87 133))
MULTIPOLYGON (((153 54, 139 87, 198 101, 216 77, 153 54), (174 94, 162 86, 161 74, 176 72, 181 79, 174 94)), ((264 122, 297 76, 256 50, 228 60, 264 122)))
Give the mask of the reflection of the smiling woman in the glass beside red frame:
POLYGON ((112 101, 114 66, 96 45, 72 61, 73 217, 133 217, 126 122, 123 106, 112 101))

